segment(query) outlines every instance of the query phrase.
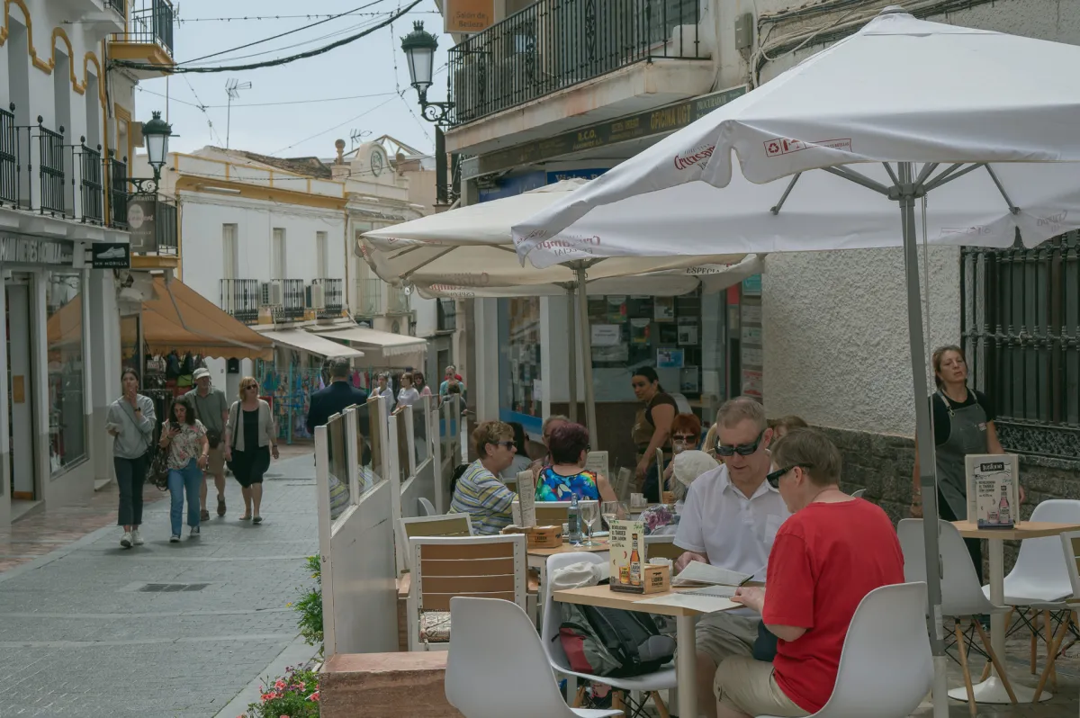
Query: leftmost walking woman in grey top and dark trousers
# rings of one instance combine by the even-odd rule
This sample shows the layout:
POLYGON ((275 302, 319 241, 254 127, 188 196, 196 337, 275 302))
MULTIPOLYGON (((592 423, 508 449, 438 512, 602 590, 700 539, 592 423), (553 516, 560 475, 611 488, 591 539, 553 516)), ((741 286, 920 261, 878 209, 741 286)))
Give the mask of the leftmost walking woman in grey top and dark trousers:
POLYGON ((153 401, 138 393, 138 374, 124 369, 120 375, 123 395, 109 405, 105 430, 112 436, 112 465, 120 489, 117 525, 124 528, 120 545, 143 545, 143 484, 153 445, 153 401))

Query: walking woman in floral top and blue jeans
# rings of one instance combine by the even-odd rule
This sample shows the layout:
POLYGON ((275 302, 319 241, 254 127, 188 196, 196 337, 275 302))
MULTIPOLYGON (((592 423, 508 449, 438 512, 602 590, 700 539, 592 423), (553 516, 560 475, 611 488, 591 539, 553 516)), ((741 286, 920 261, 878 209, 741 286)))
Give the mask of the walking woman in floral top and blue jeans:
POLYGON ((194 407, 187 396, 178 396, 173 402, 170 420, 161 426, 161 448, 168 451, 168 492, 173 499, 168 512, 173 523, 170 542, 180 540, 185 490, 188 492, 190 538, 199 538, 199 490, 210 457, 210 442, 206 428, 195 419, 194 407))

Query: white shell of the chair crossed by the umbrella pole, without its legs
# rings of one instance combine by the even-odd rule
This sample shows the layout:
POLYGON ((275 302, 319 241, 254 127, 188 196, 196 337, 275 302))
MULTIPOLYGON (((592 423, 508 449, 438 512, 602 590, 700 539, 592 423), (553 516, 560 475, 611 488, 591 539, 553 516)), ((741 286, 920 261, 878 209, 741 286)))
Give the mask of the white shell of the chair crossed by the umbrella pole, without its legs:
MULTIPOLYGON (((927 551, 921 518, 904 518, 896 526, 904 552, 904 580, 927 580, 927 551)), ((937 519, 937 551, 942 575, 942 613, 962 617, 989 613, 993 605, 983 593, 975 565, 956 527, 937 519)), ((937 567, 934 567, 937 570, 937 567)))

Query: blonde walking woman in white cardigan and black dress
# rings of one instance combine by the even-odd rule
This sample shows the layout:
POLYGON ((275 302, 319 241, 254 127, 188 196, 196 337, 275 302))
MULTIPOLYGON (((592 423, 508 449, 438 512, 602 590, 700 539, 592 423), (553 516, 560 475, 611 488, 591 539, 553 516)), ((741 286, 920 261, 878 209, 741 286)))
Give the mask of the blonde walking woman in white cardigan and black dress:
POLYGON ((278 459, 278 433, 270 405, 259 398, 255 378, 244 377, 240 380, 240 401, 229 407, 225 430, 225 460, 244 493, 242 521, 262 523, 262 474, 270 468, 271 453, 278 459))

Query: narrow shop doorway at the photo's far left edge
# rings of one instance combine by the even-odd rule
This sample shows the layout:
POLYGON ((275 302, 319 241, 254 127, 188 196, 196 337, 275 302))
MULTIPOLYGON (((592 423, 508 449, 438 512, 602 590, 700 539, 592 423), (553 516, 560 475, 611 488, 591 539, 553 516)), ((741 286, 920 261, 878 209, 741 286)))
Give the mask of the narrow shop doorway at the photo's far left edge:
POLYGON ((33 376, 30 361, 30 277, 13 274, 4 287, 8 335, 8 426, 11 497, 33 501, 33 376))

